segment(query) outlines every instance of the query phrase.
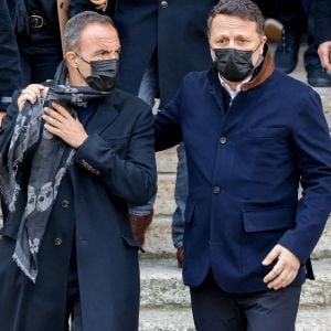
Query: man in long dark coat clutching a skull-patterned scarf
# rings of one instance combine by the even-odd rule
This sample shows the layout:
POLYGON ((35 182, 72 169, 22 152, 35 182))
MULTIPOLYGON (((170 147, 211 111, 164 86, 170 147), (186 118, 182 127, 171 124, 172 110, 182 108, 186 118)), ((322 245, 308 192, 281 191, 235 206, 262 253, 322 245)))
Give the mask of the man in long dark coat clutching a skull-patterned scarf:
POLYGON ((0 329, 138 330, 128 204, 156 193, 151 109, 117 88, 113 21, 72 18, 53 82, 17 93, 0 132, 0 329))

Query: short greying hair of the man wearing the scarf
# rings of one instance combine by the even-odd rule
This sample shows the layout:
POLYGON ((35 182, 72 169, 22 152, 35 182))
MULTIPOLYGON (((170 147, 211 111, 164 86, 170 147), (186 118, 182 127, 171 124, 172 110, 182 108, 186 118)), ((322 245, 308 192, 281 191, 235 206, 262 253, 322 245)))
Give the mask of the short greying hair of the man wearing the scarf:
POLYGON ((109 24, 115 29, 113 20, 108 15, 102 15, 94 11, 83 11, 71 18, 64 29, 63 51, 79 52, 81 38, 84 29, 89 24, 109 24))

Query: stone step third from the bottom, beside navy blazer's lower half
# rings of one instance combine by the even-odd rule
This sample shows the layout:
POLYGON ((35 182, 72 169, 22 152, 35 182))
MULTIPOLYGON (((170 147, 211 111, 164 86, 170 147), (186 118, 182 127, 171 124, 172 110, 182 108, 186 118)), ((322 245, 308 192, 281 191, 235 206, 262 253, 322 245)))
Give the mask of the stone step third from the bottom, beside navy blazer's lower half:
MULTIPOLYGON (((157 216, 146 233, 146 253, 142 258, 175 258, 175 248, 171 237, 171 216, 157 216)), ((329 217, 323 235, 312 253, 313 259, 331 259, 331 217, 329 217)))

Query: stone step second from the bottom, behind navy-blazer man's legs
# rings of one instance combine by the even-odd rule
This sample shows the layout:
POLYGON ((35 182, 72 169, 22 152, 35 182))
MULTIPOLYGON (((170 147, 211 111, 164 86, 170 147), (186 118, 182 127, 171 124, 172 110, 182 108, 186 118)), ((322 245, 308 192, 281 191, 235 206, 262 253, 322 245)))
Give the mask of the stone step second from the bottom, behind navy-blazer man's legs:
MULTIPOLYGON (((141 259, 140 263, 141 307, 190 307, 189 289, 174 259, 141 259)), ((313 261, 313 269, 316 280, 303 285, 301 306, 331 306, 331 259, 313 261)))

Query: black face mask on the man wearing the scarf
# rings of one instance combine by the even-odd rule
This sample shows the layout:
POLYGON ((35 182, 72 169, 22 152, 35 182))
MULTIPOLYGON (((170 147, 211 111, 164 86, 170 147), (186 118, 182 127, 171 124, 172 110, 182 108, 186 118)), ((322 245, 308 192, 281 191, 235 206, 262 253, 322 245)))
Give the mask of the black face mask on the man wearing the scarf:
POLYGON ((90 76, 84 77, 78 70, 90 88, 100 92, 110 92, 115 87, 118 76, 118 60, 111 58, 90 62, 82 60, 90 65, 90 76))

